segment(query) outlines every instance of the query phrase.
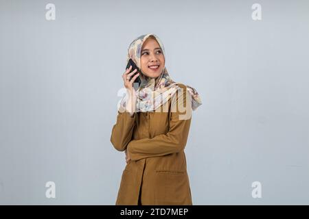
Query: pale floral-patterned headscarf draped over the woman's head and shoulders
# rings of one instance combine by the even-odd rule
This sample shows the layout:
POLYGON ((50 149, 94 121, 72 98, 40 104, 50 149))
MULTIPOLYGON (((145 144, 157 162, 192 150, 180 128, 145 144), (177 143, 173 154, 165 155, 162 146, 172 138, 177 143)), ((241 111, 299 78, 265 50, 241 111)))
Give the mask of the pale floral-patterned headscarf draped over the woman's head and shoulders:
MULTIPOLYGON (((126 58, 126 62, 131 58, 133 62, 137 65, 137 67, 141 70, 141 47, 144 42, 150 37, 153 36, 159 46, 161 47, 163 56, 165 58, 165 50, 163 44, 158 36, 155 34, 145 34, 141 35, 133 42, 130 43, 128 47, 128 55, 126 58)), ((136 112, 151 112, 157 110, 158 107, 166 103, 172 96, 182 88, 178 86, 177 82, 173 81, 168 74, 168 70, 163 68, 161 75, 157 78, 151 78, 144 75, 142 72, 139 74, 141 79, 141 84, 136 91, 137 94, 137 105, 136 112)), ((201 98, 198 95, 198 92, 187 86, 187 91, 191 95, 192 99, 192 110, 196 110, 196 108, 202 104, 201 98)), ((122 98, 120 101, 121 107, 126 107, 126 96, 122 98)))

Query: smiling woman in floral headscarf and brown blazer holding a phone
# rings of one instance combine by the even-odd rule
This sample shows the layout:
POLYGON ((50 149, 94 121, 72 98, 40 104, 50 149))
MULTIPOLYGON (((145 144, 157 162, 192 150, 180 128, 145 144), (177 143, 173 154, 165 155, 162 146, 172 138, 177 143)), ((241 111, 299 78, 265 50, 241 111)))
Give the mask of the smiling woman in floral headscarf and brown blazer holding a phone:
POLYGON ((111 133, 115 149, 126 153, 116 205, 192 205, 184 149, 191 112, 201 99, 194 88, 172 81, 155 34, 136 38, 130 58, 139 73, 132 77, 137 70, 130 73, 130 66, 122 75, 127 93, 111 133))

